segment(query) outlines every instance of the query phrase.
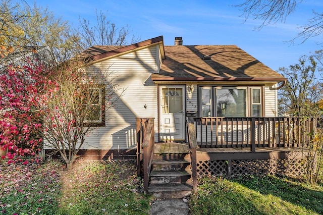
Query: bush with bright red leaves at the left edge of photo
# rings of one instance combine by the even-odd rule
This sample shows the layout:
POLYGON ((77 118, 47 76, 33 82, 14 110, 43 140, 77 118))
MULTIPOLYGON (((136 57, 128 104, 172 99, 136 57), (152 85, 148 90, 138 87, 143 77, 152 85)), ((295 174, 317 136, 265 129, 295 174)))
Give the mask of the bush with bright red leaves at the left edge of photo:
POLYGON ((37 61, 0 72, 0 147, 9 163, 36 155, 43 142, 40 112, 56 83, 37 61))

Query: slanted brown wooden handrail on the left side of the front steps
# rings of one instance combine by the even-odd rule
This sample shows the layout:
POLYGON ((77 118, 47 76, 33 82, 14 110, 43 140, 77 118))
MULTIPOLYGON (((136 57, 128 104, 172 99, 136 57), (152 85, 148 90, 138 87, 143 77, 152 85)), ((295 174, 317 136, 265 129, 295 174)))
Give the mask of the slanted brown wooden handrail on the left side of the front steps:
POLYGON ((146 131, 143 134, 143 180, 144 191, 148 193, 149 177, 151 172, 151 164, 154 150, 154 119, 148 119, 146 131))

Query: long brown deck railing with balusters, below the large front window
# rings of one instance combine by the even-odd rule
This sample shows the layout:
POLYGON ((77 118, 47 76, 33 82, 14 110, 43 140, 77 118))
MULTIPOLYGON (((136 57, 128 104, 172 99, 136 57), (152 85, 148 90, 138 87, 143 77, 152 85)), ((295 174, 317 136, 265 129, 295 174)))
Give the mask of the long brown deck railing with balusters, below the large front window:
POLYGON ((194 118, 200 148, 302 147, 316 128, 314 118, 198 117, 194 118))

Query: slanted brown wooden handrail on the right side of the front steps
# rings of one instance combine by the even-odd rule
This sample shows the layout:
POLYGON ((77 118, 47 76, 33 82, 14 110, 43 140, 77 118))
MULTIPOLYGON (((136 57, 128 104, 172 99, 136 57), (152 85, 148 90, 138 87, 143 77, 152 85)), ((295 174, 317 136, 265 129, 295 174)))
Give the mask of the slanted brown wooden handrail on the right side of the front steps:
POLYGON ((187 126, 188 147, 190 149, 190 155, 191 155, 193 192, 196 193, 197 192, 197 158, 196 158, 197 141, 196 141, 193 118, 186 118, 186 126, 187 126))

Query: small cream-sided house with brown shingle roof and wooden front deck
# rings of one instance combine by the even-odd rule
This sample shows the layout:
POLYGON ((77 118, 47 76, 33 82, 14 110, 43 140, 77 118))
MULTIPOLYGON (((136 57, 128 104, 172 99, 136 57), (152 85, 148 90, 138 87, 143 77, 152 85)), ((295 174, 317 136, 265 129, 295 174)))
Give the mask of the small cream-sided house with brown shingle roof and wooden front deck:
POLYGON ((183 45, 182 37, 176 37, 175 45, 166 46, 159 36, 127 46, 93 46, 80 57, 95 71, 112 71, 124 89, 80 155, 137 156, 145 186, 183 184, 190 177, 196 182, 196 173, 272 171, 278 164, 269 168, 268 160, 285 159, 290 152, 277 149, 298 144, 299 138, 292 136, 299 131, 291 129, 297 119, 278 117, 277 91, 286 78, 236 45, 183 45), (255 148, 262 151, 255 153, 255 148), (159 156, 152 155, 154 150, 159 156), (153 165, 165 165, 170 153, 184 160, 180 169, 191 170, 188 179, 153 175, 153 165))

